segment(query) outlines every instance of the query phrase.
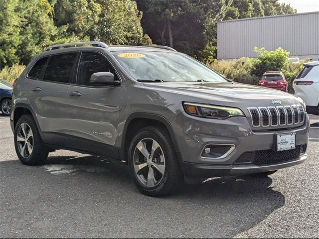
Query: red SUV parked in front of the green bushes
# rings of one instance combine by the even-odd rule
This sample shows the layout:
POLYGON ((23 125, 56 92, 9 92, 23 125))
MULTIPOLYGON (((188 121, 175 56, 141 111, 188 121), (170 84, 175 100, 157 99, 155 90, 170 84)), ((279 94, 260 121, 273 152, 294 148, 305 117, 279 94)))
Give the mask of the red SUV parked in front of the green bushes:
POLYGON ((288 84, 281 71, 265 72, 258 85, 288 92, 288 84))

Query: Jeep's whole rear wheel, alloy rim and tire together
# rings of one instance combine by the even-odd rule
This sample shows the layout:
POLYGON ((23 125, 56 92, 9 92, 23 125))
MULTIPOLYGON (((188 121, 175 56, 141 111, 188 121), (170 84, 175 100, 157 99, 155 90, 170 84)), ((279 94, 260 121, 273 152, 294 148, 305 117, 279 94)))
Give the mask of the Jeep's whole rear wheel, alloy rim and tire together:
POLYGON ((14 129, 14 146, 20 161, 25 165, 42 164, 48 156, 48 150, 30 115, 18 119, 14 129))

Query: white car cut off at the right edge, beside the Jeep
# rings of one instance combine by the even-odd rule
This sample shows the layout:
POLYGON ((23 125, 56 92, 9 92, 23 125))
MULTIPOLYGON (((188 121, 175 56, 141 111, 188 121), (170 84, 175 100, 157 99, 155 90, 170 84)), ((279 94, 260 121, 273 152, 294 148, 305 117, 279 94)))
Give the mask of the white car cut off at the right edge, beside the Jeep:
POLYGON ((293 84, 295 95, 303 99, 307 112, 319 115, 319 60, 304 64, 293 84))

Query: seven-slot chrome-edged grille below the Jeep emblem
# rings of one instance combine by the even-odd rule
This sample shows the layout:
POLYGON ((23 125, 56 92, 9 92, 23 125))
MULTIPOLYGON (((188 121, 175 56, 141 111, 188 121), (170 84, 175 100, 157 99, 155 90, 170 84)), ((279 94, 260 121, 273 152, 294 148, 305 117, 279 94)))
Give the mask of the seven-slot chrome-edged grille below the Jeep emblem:
POLYGON ((305 121, 302 105, 248 108, 254 127, 284 126, 305 121))

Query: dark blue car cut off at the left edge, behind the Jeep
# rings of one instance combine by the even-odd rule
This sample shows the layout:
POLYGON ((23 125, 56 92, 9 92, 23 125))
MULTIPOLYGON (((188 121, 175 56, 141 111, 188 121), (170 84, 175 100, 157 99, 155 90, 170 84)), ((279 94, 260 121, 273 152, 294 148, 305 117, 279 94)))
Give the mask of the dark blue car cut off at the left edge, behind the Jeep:
POLYGON ((11 111, 12 84, 0 79, 0 111, 2 115, 9 116, 11 111))

